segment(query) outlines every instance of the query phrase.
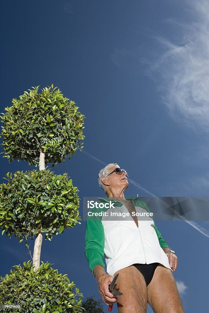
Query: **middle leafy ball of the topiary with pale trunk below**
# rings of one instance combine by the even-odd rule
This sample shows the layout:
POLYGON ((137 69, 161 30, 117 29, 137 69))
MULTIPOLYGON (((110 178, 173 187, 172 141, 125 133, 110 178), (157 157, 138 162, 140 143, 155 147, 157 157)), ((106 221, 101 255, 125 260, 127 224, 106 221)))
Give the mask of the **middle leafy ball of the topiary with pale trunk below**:
POLYGON ((0 185, 0 226, 6 236, 20 241, 36 237, 33 265, 39 268, 42 236, 45 240, 80 223, 78 188, 66 173, 50 170, 17 171, 6 174, 7 184, 0 185))

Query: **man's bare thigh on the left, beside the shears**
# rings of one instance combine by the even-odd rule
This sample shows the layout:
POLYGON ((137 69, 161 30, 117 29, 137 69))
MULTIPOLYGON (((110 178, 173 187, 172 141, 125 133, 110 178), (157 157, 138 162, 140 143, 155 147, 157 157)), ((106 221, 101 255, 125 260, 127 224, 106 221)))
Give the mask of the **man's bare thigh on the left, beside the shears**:
POLYGON ((118 270, 113 276, 118 275, 114 289, 123 295, 118 296, 117 305, 119 313, 146 313, 147 312, 147 286, 144 276, 131 265, 118 270))

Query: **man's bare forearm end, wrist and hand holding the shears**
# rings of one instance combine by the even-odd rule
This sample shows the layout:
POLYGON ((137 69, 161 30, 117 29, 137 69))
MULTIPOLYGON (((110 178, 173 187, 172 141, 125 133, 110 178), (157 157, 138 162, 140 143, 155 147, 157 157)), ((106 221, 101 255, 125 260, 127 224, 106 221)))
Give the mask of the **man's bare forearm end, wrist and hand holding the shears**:
POLYGON ((95 266, 93 270, 94 276, 97 278, 99 294, 106 304, 116 302, 114 295, 109 291, 109 285, 112 283, 114 276, 107 275, 102 265, 95 266))

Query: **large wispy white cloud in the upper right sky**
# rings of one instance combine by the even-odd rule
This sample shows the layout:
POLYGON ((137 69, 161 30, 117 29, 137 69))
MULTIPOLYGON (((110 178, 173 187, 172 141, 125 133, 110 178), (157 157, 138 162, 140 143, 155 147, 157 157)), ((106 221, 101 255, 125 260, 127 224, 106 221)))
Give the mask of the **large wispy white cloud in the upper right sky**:
POLYGON ((162 100, 176 122, 209 132, 209 5, 206 0, 184 4, 193 21, 169 21, 180 30, 178 44, 156 37, 163 53, 149 73, 161 75, 162 100))

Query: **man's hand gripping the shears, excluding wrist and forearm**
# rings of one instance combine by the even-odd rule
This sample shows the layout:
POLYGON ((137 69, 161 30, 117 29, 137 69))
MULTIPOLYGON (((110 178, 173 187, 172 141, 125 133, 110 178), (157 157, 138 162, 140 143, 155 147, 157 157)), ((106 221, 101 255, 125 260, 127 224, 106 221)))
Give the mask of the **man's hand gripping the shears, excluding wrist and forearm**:
POLYGON ((113 304, 116 302, 114 295, 109 291, 109 285, 112 283, 114 276, 102 274, 98 279, 99 294, 106 304, 113 304))

